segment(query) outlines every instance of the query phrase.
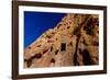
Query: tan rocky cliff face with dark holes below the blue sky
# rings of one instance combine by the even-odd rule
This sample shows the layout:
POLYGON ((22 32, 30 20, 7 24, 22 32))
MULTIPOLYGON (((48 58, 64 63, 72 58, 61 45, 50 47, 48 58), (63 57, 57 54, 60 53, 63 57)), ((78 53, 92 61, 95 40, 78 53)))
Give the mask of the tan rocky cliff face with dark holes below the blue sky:
POLYGON ((98 20, 92 14, 67 14, 25 48, 24 68, 98 65, 98 20))

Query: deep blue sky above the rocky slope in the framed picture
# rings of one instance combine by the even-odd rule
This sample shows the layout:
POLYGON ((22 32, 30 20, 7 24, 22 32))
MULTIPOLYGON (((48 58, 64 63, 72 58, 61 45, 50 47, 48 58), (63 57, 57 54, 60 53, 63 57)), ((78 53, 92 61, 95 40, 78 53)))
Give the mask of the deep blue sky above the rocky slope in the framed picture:
POLYGON ((24 11, 24 47, 33 43, 42 33, 56 26, 65 13, 24 11))

